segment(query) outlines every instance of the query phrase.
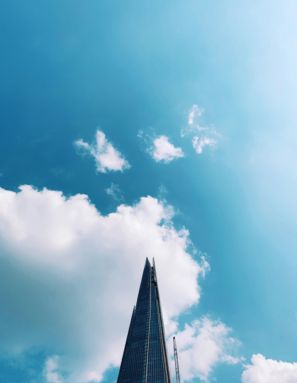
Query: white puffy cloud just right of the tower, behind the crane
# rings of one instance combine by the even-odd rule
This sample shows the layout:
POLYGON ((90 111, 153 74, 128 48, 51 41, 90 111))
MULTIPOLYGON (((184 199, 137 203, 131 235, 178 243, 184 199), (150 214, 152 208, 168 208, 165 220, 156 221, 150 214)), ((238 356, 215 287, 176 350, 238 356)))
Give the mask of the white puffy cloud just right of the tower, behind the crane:
MULTIPOLYGON (((183 331, 177 332, 179 368, 182 381, 200 378, 209 381, 209 375, 217 363, 236 364, 239 359, 232 356, 240 345, 239 340, 229 336, 231 329, 221 321, 213 321, 203 317, 190 325, 186 324, 183 331)), ((172 360, 174 371, 174 360, 172 360)))

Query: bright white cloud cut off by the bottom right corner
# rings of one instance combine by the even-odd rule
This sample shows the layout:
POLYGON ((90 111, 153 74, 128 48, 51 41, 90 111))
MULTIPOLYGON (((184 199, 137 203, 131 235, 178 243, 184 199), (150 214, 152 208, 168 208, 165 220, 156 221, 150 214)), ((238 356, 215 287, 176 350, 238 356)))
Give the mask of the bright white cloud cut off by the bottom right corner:
POLYGON ((251 365, 245 365, 243 383, 296 383, 297 363, 278 362, 263 355, 253 355, 251 365))

